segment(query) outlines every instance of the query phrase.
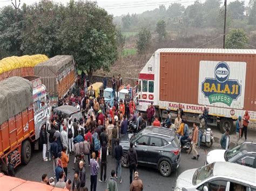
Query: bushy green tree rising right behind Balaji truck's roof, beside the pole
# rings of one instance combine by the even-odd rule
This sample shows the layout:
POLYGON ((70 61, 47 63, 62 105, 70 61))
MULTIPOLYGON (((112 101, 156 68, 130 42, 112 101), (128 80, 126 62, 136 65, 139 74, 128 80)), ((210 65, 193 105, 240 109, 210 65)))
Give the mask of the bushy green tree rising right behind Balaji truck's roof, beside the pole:
POLYGON ((233 29, 226 36, 225 48, 242 49, 246 48, 249 38, 242 29, 233 29))

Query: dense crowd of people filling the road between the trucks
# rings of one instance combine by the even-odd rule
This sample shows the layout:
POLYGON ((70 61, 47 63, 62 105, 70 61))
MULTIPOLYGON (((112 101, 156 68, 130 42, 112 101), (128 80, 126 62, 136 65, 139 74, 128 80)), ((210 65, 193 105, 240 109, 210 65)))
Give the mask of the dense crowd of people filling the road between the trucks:
MULTIPOLYGON (((89 87, 92 89, 92 87, 89 87)), ((82 111, 83 117, 65 116, 53 112, 49 124, 43 125, 39 143, 43 147, 43 161, 52 160, 53 178, 42 175, 42 183, 68 190, 88 190, 85 166, 90 167, 90 190, 97 189, 97 182, 107 182, 107 190, 117 190, 117 181, 122 183, 123 147, 119 140, 128 133, 129 121, 136 122, 137 130, 146 127, 146 119, 136 112, 136 104, 129 95, 120 104, 106 104, 104 97, 90 95, 83 88, 58 102, 58 106, 72 105, 82 111), (47 127, 48 126, 48 127, 47 127), (49 145, 48 145, 49 143, 49 145), (46 157, 47 145, 49 158, 46 157), (70 161, 70 155, 74 160, 70 161), (106 179, 107 155, 116 161, 116 169, 106 179), (86 160, 87 158, 87 160, 86 160), (68 166, 73 163, 73 180, 67 179, 68 166), (99 179, 98 179, 99 173, 99 179)), ((137 131, 136 130, 136 131, 137 131)), ((137 154, 133 145, 128 153, 130 163, 130 190, 142 190, 138 178, 137 154), (132 180, 134 176, 134 180, 132 180), (134 181, 134 182, 133 182, 134 181)))

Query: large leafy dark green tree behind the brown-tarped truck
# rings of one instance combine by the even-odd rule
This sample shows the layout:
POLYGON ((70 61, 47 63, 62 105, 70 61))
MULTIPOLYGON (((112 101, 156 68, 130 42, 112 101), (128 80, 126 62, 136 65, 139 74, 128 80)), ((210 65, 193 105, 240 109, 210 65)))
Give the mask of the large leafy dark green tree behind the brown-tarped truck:
POLYGON ((74 55, 89 80, 98 69, 109 71, 117 60, 117 30, 113 16, 92 2, 71 1, 65 10, 58 41, 63 54, 74 55))

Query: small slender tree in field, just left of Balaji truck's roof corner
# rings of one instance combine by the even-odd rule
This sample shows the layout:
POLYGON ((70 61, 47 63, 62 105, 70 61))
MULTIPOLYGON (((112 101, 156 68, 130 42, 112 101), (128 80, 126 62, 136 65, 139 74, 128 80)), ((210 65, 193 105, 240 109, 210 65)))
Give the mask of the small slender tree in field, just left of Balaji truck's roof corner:
POLYGON ((137 49, 139 54, 145 54, 150 48, 151 44, 151 32, 146 27, 143 27, 139 33, 136 40, 137 49))

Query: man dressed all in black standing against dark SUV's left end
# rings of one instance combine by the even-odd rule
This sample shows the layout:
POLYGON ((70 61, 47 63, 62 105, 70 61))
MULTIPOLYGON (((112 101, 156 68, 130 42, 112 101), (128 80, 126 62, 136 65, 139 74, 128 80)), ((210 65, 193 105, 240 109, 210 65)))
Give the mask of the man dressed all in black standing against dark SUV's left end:
POLYGON ((136 172, 137 171, 137 166, 138 166, 138 157, 137 157, 137 153, 136 150, 133 149, 133 144, 130 143, 130 148, 129 151, 127 153, 127 160, 130 164, 129 168, 130 168, 130 184, 132 183, 132 171, 136 172))

